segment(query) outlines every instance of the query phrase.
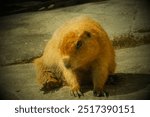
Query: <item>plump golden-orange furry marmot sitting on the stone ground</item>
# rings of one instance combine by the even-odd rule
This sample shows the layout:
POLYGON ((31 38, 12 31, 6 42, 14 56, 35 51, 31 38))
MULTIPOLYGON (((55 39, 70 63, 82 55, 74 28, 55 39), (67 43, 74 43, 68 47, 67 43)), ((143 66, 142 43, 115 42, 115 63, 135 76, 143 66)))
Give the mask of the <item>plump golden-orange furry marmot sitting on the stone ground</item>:
POLYGON ((83 95, 81 83, 88 80, 84 77, 87 73, 91 74, 94 96, 103 96, 108 75, 116 67, 107 33, 88 16, 73 18, 58 28, 34 64, 39 84, 55 88, 66 82, 74 96, 83 95))

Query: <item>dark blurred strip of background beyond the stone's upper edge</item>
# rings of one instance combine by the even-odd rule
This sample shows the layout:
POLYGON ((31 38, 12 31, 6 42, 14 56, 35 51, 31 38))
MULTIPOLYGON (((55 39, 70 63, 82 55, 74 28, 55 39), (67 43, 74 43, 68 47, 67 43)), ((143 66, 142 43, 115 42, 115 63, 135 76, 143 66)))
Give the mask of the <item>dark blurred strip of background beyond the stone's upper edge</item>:
POLYGON ((94 1, 103 0, 1 0, 0 15, 50 10, 94 1))

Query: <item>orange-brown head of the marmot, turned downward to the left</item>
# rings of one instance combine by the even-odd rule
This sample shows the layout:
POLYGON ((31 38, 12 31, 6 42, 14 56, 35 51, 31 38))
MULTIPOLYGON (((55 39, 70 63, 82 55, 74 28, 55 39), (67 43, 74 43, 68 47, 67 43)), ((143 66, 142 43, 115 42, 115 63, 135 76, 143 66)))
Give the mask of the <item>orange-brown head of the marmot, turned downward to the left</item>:
POLYGON ((82 68, 94 61, 99 52, 99 36, 96 30, 68 32, 60 44, 60 53, 66 68, 82 68))

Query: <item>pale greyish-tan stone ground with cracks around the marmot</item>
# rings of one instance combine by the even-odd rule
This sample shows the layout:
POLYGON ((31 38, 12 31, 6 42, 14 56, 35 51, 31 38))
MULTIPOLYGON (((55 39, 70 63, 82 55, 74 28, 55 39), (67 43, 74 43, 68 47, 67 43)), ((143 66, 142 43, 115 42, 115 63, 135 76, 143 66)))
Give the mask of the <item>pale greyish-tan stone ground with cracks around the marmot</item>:
POLYGON ((47 11, 0 17, 1 99, 150 99, 150 16, 141 0, 103 0, 47 11), (72 97, 68 87, 43 94, 35 81, 32 60, 40 56, 54 30, 79 15, 96 19, 116 51, 117 78, 106 85, 110 96, 72 97), (63 95, 62 95, 63 94, 63 95))

